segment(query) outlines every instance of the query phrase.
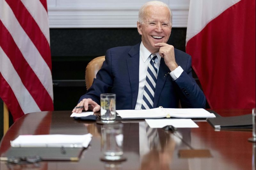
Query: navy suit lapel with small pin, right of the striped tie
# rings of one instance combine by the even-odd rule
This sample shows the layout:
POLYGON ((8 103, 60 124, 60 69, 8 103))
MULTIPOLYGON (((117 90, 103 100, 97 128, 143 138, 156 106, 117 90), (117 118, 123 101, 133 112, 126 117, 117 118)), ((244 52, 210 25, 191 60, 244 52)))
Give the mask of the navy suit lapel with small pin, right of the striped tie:
POLYGON ((160 66, 159 66, 159 71, 158 71, 158 74, 157 74, 157 80, 156 80, 156 89, 155 89, 155 97, 154 97, 154 107, 157 106, 157 103, 158 103, 158 100, 159 100, 159 97, 160 97, 160 94, 163 90, 163 87, 164 87, 164 83, 166 81, 166 78, 169 75, 168 72, 171 72, 170 69, 165 65, 164 63, 164 58, 161 58, 161 61, 160 61, 160 66), (168 73, 168 74, 167 74, 168 73), (166 74, 166 76, 165 76, 166 74))

